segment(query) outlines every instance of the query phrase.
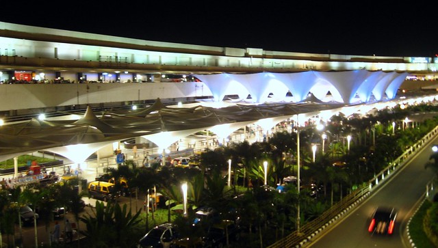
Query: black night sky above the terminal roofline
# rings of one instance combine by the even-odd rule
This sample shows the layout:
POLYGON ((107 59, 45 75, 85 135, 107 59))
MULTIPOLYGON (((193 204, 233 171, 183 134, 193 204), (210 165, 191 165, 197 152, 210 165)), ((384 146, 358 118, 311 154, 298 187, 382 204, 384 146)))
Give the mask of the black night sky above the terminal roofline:
POLYGON ((438 12, 417 2, 66 2, 70 6, 62 8, 53 3, 35 8, 12 4, 9 9, 13 12, 5 12, 2 3, 0 21, 207 46, 434 57, 438 53, 438 12))

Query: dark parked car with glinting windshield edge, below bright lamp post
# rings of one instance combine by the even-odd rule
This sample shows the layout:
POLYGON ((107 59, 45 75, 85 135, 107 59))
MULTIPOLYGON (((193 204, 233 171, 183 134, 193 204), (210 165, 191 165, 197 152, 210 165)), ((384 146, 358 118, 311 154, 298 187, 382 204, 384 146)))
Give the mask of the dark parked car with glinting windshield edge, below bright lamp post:
POLYGON ((178 238, 177 226, 172 223, 164 223, 155 226, 144 235, 137 247, 169 247, 178 238))

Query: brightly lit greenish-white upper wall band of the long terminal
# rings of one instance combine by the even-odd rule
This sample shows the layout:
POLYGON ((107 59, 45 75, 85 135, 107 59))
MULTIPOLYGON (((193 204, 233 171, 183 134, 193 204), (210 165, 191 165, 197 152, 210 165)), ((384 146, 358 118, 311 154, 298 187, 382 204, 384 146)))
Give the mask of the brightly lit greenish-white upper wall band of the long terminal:
MULTIPOLYGON (((136 49, 123 49, 109 46, 90 46, 64 44, 0 37, 0 54, 28 58, 58 59, 65 61, 103 61, 120 66, 128 64, 155 64, 171 66, 207 66, 221 68, 259 68, 263 70, 398 70, 398 71, 436 71, 438 64, 398 63, 369 61, 316 61, 304 58, 276 59, 268 57, 240 57, 201 55, 188 53, 166 53, 136 49)), ((235 53, 231 53, 233 55, 235 53)), ((339 57, 331 55, 331 57, 339 57)), ((399 58, 403 61, 403 57, 399 58)), ((18 60, 17 60, 18 61, 18 60)), ((42 62, 43 60, 41 60, 42 62)), ((0 64, 16 62, 2 59, 0 64)), ((42 65, 44 66, 44 65, 42 65)), ((109 71, 110 72, 110 71, 109 71)))

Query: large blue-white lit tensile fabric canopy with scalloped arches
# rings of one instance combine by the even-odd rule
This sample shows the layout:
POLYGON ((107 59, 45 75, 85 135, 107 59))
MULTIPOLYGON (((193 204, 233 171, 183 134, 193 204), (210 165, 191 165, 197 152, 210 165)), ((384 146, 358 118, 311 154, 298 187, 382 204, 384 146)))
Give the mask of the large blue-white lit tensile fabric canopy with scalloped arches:
POLYGON ((374 95, 381 100, 394 99, 408 72, 383 72, 368 70, 350 70, 341 72, 260 72, 255 74, 196 74, 205 83, 217 102, 224 96, 238 95, 242 99, 250 94, 253 102, 263 103, 275 96, 285 99, 290 92, 294 102, 302 102, 312 93, 320 100, 326 95, 333 96, 335 102, 355 103, 356 96, 361 102, 367 102, 374 95), (243 90, 242 90, 243 89, 243 90))

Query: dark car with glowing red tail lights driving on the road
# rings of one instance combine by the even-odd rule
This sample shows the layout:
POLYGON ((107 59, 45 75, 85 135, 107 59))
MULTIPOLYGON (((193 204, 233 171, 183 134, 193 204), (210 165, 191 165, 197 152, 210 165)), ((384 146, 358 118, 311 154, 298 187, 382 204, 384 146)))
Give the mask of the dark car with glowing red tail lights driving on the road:
POLYGON ((372 214, 368 232, 381 235, 393 234, 396 217, 397 211, 395 208, 379 206, 372 214))

